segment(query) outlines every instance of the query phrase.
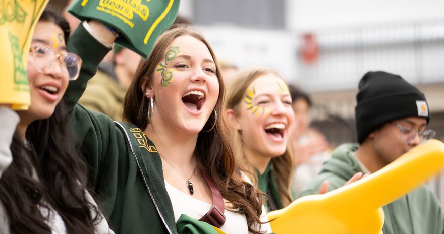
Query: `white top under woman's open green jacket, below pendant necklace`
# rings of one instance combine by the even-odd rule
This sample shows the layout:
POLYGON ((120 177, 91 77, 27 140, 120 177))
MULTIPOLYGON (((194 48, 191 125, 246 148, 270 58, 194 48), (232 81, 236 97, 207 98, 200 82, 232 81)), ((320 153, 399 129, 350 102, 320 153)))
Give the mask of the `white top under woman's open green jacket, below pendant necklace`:
MULTIPOLYGON (((251 183, 251 181, 246 177, 245 174, 242 175, 244 177, 244 180, 251 183)), ((176 222, 179 220, 179 217, 182 214, 186 214, 192 219, 199 220, 211 208, 211 204, 183 193, 167 181, 165 181, 165 187, 167 188, 168 195, 170 195, 170 200, 173 205, 174 218, 176 222)), ((247 218, 245 217, 245 215, 231 212, 227 209, 225 209, 224 214, 227 219, 225 221, 225 224, 219 228, 221 231, 224 231, 225 233, 249 233, 247 218)), ((262 206, 262 215, 260 220, 262 222, 267 222, 261 225, 261 231, 265 231, 264 233, 271 233, 271 226, 268 223, 268 217, 266 216, 264 206, 262 206)))

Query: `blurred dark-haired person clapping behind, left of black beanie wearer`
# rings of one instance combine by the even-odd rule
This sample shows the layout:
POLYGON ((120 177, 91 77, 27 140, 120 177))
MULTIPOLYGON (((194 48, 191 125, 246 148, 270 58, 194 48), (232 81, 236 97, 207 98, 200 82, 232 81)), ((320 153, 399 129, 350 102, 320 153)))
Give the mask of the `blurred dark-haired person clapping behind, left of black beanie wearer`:
POLYGON ((289 90, 295 113, 292 146, 296 171, 293 175, 292 188, 295 193, 299 193, 316 177, 322 168, 322 163, 331 157, 331 153, 328 151, 325 137, 310 128, 309 95, 293 85, 289 86, 289 90))

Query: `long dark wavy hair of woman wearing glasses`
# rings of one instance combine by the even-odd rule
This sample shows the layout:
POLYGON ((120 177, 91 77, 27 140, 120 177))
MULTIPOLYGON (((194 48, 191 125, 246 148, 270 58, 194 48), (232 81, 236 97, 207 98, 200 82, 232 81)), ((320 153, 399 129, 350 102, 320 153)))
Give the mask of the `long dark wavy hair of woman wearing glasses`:
MULTIPOLYGON (((67 39, 69 25, 63 17, 45 10, 40 21, 58 25, 67 39)), ((99 211, 86 197, 87 166, 76 150, 71 127, 61 101, 50 118, 28 126, 26 146, 14 135, 13 162, 0 179, 0 200, 13 233, 51 233, 48 217, 39 211, 48 208, 45 204, 60 214, 68 233, 94 233, 99 211)))

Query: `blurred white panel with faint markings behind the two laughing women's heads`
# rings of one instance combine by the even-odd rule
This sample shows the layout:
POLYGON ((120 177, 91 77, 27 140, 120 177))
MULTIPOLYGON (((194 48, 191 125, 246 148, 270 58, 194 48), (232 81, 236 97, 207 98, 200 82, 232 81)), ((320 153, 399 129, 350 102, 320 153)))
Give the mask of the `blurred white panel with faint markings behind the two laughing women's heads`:
POLYGON ((218 59, 241 69, 271 67, 286 80, 291 80, 296 73, 296 47, 290 32, 233 26, 197 27, 210 42, 218 59))

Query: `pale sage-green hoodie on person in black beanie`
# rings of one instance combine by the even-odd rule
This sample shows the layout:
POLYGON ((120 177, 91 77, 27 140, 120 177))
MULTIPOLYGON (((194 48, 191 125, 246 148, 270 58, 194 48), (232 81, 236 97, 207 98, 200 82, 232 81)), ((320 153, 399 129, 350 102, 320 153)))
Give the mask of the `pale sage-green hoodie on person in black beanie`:
MULTIPOLYGON (((302 190, 298 197, 318 194, 323 181, 329 182, 329 191, 342 187, 355 173, 363 172, 354 157, 358 144, 344 144, 324 163, 317 177, 302 190)), ((378 191, 374 191, 377 193, 378 191)), ((385 220, 384 234, 441 234, 443 217, 435 195, 425 186, 382 207, 385 220)))

